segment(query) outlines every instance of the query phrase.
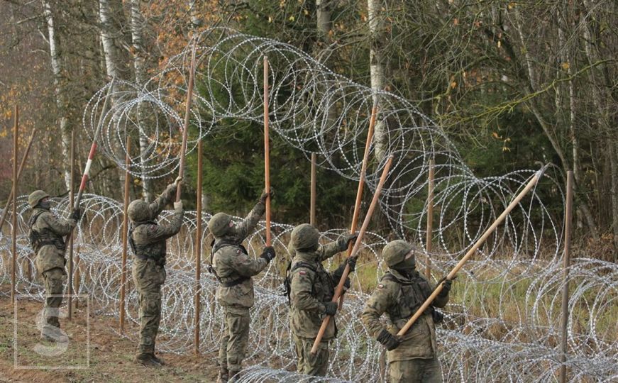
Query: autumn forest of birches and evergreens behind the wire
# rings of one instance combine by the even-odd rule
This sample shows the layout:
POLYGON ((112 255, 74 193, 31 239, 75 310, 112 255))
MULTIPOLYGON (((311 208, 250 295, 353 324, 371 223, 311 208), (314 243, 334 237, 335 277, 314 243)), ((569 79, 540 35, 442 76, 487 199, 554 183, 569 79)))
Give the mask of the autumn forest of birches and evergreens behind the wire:
MULTIPOLYGON (((16 104, 20 152, 37 131, 19 195, 66 196, 70 137, 75 132, 81 172, 89 152, 84 109, 96 91, 112 77, 145 84, 192 35, 228 27, 292 45, 336 74, 412 102, 478 177, 551 162, 564 184, 573 170, 575 240, 590 256, 615 260, 617 15, 615 1, 592 0, 1 0, 0 197, 11 191, 16 104)), ((216 123, 221 128, 204 139, 204 209, 241 214, 263 187, 262 131, 247 121, 216 123)), ((277 135, 271 150, 279 170, 273 214, 307 221, 307 157, 277 135)), ((183 199, 194 209, 194 152, 187 172, 183 199)), ((88 191, 121 200, 122 177, 115 162, 95 157, 88 191)), ((317 177, 319 226, 347 226, 355 183, 326 169, 317 177)), ((135 177, 131 198, 152 199, 168 182, 135 177)), ((561 193, 547 196, 561 221, 561 193)))

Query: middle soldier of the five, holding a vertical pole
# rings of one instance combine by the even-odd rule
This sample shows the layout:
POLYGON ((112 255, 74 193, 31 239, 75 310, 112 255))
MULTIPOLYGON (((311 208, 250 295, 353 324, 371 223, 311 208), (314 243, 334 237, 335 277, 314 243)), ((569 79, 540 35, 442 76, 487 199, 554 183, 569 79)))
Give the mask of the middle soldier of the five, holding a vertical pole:
POLYGON ((249 309, 254 303, 251 277, 264 270, 275 257, 275 249, 267 246, 260 257, 251 259, 241 245, 265 212, 268 196, 263 192, 258 204, 238 225, 234 225, 232 217, 226 213, 216 213, 208 223, 214 236, 209 270, 219 281, 216 301, 223 306, 225 313, 217 382, 228 382, 228 379, 233 382, 238 378, 249 341, 249 309))

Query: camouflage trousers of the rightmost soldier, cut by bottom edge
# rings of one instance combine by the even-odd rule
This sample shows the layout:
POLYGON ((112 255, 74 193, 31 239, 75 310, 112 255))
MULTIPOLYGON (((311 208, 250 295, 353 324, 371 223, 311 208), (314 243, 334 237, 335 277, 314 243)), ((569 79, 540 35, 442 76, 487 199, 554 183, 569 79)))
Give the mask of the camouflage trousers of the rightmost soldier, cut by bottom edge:
POLYGON ((398 360, 388 367, 390 383, 442 383, 442 366, 437 357, 398 360))

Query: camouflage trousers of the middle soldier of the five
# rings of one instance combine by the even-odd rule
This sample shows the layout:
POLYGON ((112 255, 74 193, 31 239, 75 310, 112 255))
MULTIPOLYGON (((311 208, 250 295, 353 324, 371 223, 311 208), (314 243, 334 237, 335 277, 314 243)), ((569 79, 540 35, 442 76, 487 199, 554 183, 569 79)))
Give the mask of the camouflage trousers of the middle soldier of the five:
POLYGON ((231 371, 240 371, 249 343, 249 309, 224 307, 224 337, 219 348, 219 365, 231 371))

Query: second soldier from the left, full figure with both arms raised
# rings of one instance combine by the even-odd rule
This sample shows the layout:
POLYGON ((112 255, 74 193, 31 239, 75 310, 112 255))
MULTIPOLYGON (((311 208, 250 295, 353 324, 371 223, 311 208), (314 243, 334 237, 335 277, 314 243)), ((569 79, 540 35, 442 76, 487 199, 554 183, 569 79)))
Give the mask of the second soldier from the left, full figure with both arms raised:
POLYGON ((161 286, 167 275, 165 241, 180 231, 184 215, 182 201, 174 203, 170 223, 159 224, 155 220, 165 205, 172 201, 180 182, 182 177, 177 177, 152 204, 138 199, 131 202, 127 209, 131 219, 127 237, 134 256, 131 271, 140 305, 140 345, 135 362, 145 366, 159 367, 164 364, 155 356, 155 340, 161 320, 161 286))

